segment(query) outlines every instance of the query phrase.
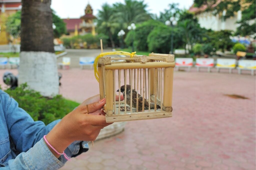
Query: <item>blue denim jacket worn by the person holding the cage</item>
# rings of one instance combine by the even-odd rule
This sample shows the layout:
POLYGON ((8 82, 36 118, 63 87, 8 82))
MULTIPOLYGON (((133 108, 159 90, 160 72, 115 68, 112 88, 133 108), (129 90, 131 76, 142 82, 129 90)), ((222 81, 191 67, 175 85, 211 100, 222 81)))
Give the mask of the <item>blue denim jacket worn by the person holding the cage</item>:
MULTIPOLYGON (((34 121, 13 98, 0 90, 0 170, 51 170, 64 166, 67 160, 62 156, 57 159, 42 138, 59 121, 47 126, 34 121)), ((65 153, 75 157, 88 149, 86 141, 75 141, 65 153)))

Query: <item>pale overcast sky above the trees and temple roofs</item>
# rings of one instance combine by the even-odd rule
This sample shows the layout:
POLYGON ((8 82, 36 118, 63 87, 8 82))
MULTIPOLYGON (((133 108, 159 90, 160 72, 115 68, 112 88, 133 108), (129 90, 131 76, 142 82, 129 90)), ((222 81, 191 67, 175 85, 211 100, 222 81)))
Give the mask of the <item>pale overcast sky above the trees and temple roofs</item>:
MULTIPOLYGON (((93 8, 93 14, 97 15, 102 4, 106 2, 108 2, 108 4, 115 2, 123 3, 124 0, 90 0, 89 4, 93 8)), ((170 3, 179 3, 179 8, 188 9, 193 4, 193 0, 144 0, 144 3, 148 5, 147 10, 149 10, 150 13, 159 15, 161 11, 168 9, 168 4, 170 3)), ((60 18, 80 18, 84 15, 84 9, 87 4, 88 0, 52 0, 51 8, 56 11, 60 18)))

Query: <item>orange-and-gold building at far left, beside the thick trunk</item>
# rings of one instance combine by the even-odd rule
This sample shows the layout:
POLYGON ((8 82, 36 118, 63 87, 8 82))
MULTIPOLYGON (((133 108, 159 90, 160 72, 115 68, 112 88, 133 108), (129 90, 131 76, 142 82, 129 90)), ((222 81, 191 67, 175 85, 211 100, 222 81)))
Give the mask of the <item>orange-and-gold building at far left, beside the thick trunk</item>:
POLYGON ((21 0, 0 0, 0 45, 8 44, 5 21, 8 16, 21 9, 21 0))

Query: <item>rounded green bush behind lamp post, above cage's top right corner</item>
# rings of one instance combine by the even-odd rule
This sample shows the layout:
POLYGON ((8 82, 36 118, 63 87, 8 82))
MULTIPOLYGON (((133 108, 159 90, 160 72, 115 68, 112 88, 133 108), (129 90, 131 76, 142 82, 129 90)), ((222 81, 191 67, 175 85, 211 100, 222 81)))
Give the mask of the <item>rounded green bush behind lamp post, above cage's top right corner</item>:
POLYGON ((181 41, 181 34, 178 28, 171 28, 166 25, 156 27, 147 37, 148 49, 150 52, 169 54, 171 48, 171 37, 174 35, 174 49, 178 48, 181 41))

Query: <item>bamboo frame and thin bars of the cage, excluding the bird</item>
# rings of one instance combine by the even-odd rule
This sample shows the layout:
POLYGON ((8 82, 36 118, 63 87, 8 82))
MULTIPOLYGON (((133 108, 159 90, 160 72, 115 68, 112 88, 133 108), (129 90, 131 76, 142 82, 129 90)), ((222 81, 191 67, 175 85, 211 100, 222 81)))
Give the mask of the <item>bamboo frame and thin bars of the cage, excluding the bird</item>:
MULTIPOLYGON (((126 57, 117 57, 112 58, 109 56, 101 57, 98 61, 98 73, 99 73, 99 88, 100 88, 100 98, 106 98, 106 104, 104 105, 104 111, 106 112, 106 122, 122 122, 122 121, 134 121, 134 120, 145 120, 145 119, 155 119, 162 117, 172 117, 172 93, 173 93, 173 71, 175 67, 174 55, 171 54, 149 54, 149 56, 145 55, 135 55, 133 58, 130 56, 126 57), (116 61, 118 60, 118 61, 116 61), (122 61, 120 61, 122 60, 122 61), (153 101, 154 110, 150 107, 148 111, 144 111, 144 81, 146 81, 143 77, 143 107, 142 112, 138 111, 138 99, 136 112, 131 113, 126 112, 126 99, 124 99, 124 114, 120 114, 120 91, 119 91, 119 101, 115 101, 116 88, 115 88, 115 70, 118 70, 118 81, 120 89, 120 74, 121 70, 124 72, 124 79, 126 79, 127 69, 131 70, 130 74, 133 77, 133 70, 137 70, 137 75, 142 73, 145 75, 146 69, 148 70, 148 102, 149 100, 153 101), (158 72, 158 69, 161 70, 158 72), (143 70, 143 71, 142 71, 143 70), (157 74, 156 74, 157 73, 157 74), (157 75, 160 75, 157 78, 157 75), (162 74, 164 74, 164 78, 162 80, 162 74), (159 79, 161 82, 159 85, 156 83, 159 79), (160 80, 161 79, 161 80, 160 80), (163 83, 163 85, 162 85, 163 83), (163 86, 163 93, 162 93, 163 86), (161 89, 161 99, 155 97, 157 94, 156 87, 160 87, 161 89), (107 90, 106 90, 107 89, 107 90), (163 96, 162 96, 163 94, 163 96), (150 96, 150 97, 149 97, 150 96), (163 98, 163 101, 162 101, 163 98), (118 112, 116 112, 116 106, 118 104, 118 112), (156 104, 161 106, 159 111, 156 110, 156 104)), ((134 71, 135 73, 135 71, 134 71)), ((132 88, 132 80, 130 77, 130 84, 132 88)), ((135 74, 134 74, 135 77, 135 74)), ((137 76, 137 81, 139 76, 137 76)), ((126 85, 126 80, 124 81, 126 85)), ((134 80, 135 85, 135 80, 134 80)), ((140 83, 142 86, 142 82, 140 83)), ((126 86, 125 86, 126 88, 126 86)), ((138 82, 137 82, 138 89, 138 82)), ((125 91, 126 94, 126 91, 125 91)), ((138 98, 138 93, 137 93, 138 98)), ((131 100, 132 101, 132 100, 131 100)), ((151 103, 151 102, 149 102, 151 103)))

